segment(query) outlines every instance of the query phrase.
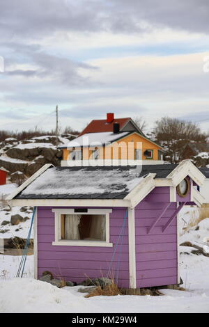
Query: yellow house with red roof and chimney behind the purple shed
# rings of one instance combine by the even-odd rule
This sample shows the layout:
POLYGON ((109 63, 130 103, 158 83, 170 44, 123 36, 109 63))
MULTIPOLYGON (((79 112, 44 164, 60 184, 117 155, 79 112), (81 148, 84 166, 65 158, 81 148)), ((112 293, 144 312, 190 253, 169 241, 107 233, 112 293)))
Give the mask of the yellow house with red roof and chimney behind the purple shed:
POLYGON ((61 166, 162 163, 162 147, 147 138, 131 118, 93 120, 78 138, 63 145, 61 166))

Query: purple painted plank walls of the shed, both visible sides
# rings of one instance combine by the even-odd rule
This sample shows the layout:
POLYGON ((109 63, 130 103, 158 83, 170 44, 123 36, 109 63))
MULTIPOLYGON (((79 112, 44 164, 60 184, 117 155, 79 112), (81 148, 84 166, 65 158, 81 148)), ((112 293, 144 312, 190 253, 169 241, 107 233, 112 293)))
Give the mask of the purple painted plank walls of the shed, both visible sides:
MULTIPOLYGON (((190 199, 190 194, 187 197, 190 199)), ((162 227, 176 210, 176 202, 148 234, 148 228, 169 202, 169 187, 156 187, 135 208, 137 288, 176 284, 178 279, 177 222, 173 219, 165 232, 162 227)), ((114 247, 121 232, 125 208, 112 208, 110 214, 110 242, 112 248, 86 246, 52 246, 54 241, 54 213, 52 207, 38 207, 38 277, 45 270, 66 280, 81 282, 87 277, 107 276, 114 247)), ((118 273, 119 287, 129 287, 128 228, 125 225, 123 245, 116 250, 111 268, 117 276, 118 257, 121 263, 118 273)))

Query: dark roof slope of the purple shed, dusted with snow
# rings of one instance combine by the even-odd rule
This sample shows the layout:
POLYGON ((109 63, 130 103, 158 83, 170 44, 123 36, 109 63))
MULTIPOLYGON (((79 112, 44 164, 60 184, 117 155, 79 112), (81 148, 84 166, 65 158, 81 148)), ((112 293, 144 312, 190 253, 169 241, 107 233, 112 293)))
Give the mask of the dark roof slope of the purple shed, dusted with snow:
POLYGON ((127 167, 53 167, 17 198, 124 198, 143 178, 140 173, 127 167))

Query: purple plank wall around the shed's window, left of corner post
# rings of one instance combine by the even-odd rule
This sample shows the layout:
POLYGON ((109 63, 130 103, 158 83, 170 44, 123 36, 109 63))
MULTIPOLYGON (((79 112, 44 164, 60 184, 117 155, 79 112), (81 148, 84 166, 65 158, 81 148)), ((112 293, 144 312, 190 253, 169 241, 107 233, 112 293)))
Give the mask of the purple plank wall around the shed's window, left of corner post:
MULTIPOLYGON (((69 207, 70 209, 70 207, 69 207)), ((129 258, 127 220, 123 244, 118 242, 115 255, 116 242, 121 233, 125 216, 125 208, 114 208, 110 214, 110 239, 113 247, 92 246, 53 246, 54 213, 52 207, 38 207, 38 277, 43 271, 51 271, 54 276, 82 282, 88 278, 107 276, 111 264, 110 275, 118 277, 120 287, 129 287, 129 258), (120 264, 118 265, 118 260, 120 264), (120 266, 120 269, 118 267, 120 266)))

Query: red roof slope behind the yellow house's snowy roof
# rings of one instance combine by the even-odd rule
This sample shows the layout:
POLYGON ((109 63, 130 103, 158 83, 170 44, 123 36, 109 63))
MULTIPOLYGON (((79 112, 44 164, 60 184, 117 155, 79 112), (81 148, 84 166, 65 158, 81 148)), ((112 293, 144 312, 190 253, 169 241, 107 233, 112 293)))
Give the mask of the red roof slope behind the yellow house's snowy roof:
POLYGON ((120 124, 120 130, 121 128, 130 120, 131 118, 116 118, 112 122, 107 122, 106 119, 101 120, 92 120, 86 128, 82 131, 79 136, 82 136, 83 134, 87 133, 100 133, 102 131, 113 131, 114 128, 114 122, 118 122, 120 124))

